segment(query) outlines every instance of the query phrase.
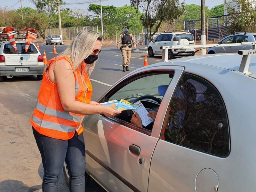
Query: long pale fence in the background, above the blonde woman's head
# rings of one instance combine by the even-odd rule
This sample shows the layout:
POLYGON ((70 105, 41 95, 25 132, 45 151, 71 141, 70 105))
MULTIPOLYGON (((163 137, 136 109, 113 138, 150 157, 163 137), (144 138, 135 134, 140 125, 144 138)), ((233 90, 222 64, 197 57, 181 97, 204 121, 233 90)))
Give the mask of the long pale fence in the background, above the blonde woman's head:
MULTIPOLYGON (((76 34, 84 29, 90 29, 98 32, 98 26, 62 28, 62 40, 64 42, 71 42, 76 34)), ((59 32, 59 28, 46 29, 46 37, 55 34, 59 35, 59 32)))

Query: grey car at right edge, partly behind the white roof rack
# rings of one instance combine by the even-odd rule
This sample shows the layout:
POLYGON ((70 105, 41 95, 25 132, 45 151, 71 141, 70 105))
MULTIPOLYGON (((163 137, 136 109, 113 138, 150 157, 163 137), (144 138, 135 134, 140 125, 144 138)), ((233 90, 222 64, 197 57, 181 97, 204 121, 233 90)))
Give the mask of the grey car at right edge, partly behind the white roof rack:
MULTIPOLYGON (((256 42, 256 33, 237 33, 235 35, 230 35, 222 39, 218 44, 231 44, 240 42, 256 42)), ((216 44, 217 45, 217 44, 216 44)), ((237 53, 239 50, 249 50, 252 49, 250 45, 241 46, 229 46, 229 47, 212 47, 209 48, 206 54, 215 53, 237 53)))

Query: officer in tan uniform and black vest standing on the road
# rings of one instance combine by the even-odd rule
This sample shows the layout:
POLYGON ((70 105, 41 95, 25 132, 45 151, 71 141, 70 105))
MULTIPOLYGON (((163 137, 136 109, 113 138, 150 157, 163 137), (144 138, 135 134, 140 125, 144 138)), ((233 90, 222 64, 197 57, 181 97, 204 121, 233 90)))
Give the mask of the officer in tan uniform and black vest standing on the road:
POLYGON ((131 60, 131 52, 132 52, 132 44, 134 48, 136 48, 136 41, 131 33, 129 33, 129 26, 126 25, 124 28, 124 32, 122 32, 117 41, 117 49, 118 51, 121 49, 123 55, 123 71, 130 71, 130 60, 131 60), (120 46, 122 42, 122 45, 120 46))

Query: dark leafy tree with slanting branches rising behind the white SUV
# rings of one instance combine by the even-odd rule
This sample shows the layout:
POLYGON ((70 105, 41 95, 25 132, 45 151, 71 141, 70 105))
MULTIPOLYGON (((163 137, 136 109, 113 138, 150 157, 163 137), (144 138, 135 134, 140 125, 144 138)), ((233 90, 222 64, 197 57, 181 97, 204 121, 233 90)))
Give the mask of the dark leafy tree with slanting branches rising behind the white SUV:
POLYGON ((142 9, 140 17, 147 29, 149 40, 160 28, 163 21, 176 20, 184 12, 184 2, 179 0, 131 0, 131 5, 142 9))

